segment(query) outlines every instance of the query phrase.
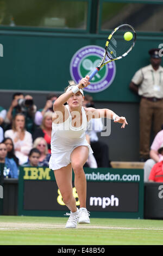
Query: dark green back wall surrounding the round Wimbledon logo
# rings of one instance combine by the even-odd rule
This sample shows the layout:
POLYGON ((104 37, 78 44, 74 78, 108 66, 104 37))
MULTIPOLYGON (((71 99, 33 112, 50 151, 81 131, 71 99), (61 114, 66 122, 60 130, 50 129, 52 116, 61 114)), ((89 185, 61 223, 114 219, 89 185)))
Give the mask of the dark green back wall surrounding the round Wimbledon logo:
MULTIPOLYGON (((53 32, 0 31, 3 57, 0 57, 0 90, 63 92, 71 80, 70 62, 80 48, 104 47, 106 35, 61 34, 53 32)), ((95 101, 137 102, 129 90, 135 71, 149 63, 148 50, 158 47, 163 36, 137 36, 134 50, 117 60, 111 85, 93 93, 95 101)))

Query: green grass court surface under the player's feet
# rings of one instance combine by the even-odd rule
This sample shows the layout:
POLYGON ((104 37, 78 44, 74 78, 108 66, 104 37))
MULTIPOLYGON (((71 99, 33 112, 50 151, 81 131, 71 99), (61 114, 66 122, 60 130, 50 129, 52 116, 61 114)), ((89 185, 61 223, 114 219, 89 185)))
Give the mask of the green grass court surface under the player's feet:
POLYGON ((90 218, 65 229, 67 219, 0 216, 0 245, 163 245, 163 220, 90 218))

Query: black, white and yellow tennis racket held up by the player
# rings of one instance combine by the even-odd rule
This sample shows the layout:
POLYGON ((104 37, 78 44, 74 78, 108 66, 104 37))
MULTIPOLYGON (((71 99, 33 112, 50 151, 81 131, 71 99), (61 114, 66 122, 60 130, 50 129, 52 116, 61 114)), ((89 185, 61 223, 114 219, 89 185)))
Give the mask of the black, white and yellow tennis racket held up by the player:
MULTIPOLYGON (((127 38, 128 39, 128 38, 127 38)), ((97 74, 97 72, 103 68, 104 65, 112 62, 113 60, 122 59, 133 49, 136 41, 136 32, 134 28, 128 24, 118 26, 111 32, 106 40, 105 51, 103 58, 95 70, 90 74, 90 80, 97 74), (126 40, 125 33, 130 32, 130 40, 126 40)))

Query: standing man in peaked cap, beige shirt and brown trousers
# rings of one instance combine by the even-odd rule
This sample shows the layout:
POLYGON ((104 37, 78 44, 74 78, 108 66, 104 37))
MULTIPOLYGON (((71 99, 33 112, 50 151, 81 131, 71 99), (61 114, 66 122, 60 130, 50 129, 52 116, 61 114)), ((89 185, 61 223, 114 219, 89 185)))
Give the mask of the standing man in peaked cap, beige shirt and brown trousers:
POLYGON ((129 88, 141 96, 140 101, 140 161, 149 158, 149 143, 153 123, 154 135, 163 124, 163 68, 158 48, 149 50, 151 64, 139 69, 129 88))

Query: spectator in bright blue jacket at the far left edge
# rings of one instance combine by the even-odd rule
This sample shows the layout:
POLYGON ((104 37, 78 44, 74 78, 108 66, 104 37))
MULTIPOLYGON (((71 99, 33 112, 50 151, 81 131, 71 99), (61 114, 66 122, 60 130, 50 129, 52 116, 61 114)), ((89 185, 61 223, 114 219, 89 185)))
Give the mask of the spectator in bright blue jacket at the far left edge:
POLYGON ((3 178, 18 178, 18 168, 14 160, 7 157, 7 147, 0 143, 0 163, 4 163, 3 178))

